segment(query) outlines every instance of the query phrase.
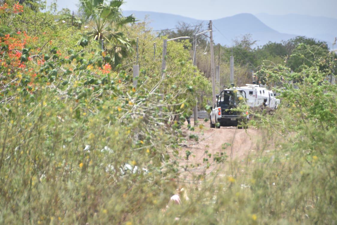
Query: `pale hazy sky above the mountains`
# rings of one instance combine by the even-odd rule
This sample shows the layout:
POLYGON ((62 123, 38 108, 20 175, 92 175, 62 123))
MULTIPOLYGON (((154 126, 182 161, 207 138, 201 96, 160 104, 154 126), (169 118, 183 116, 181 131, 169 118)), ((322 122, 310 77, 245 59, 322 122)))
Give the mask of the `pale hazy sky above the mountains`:
MULTIPOLYGON (((76 9, 77 2, 57 1, 59 8, 71 10, 76 9)), ((337 0, 125 0, 122 9, 165 12, 201 20, 215 20, 238 13, 295 13, 337 18, 337 0)))

